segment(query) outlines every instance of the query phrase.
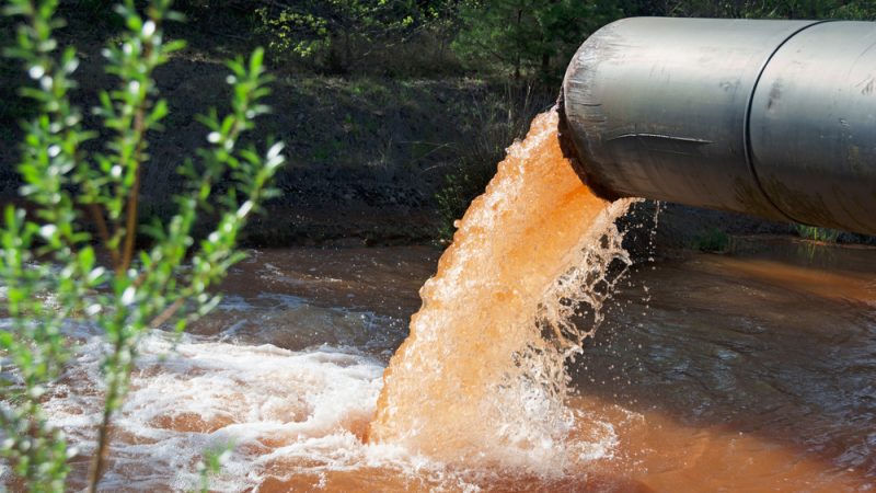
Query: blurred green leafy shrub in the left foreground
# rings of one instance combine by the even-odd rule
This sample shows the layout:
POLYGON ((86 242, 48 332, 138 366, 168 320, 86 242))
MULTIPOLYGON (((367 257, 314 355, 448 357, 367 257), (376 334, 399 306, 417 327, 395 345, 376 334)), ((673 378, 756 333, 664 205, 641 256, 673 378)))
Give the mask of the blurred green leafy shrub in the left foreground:
MULTIPOLYGON (((69 324, 100 329, 108 351, 103 355, 105 402, 92 459, 90 491, 101 480, 108 450, 108 429, 128 388, 138 342, 153 328, 182 331, 214 308, 219 297, 208 291, 240 261, 238 234, 284 162, 283 146, 266 152, 239 148, 253 119, 267 112, 263 53, 249 61, 229 61, 231 112, 210 111, 200 121, 208 146, 197 159, 182 161, 185 193, 174 197, 175 211, 165 223, 141 227, 151 237, 149 250, 137 251, 138 197, 142 167, 149 162, 148 135, 161 129, 168 105, 159 98, 153 71, 183 43, 165 43, 162 26, 177 19, 170 0, 151 0, 141 14, 134 0, 117 13, 126 26, 120 43, 107 46, 107 73, 117 85, 100 93, 94 110, 106 140, 100 152, 82 144, 95 139, 70 103, 77 54, 59 50, 54 30, 58 0, 9 0, 4 13, 24 19, 16 45, 7 54, 23 62, 33 80, 21 89, 37 106, 25 125, 19 165, 21 195, 28 211, 8 206, 0 228, 0 279, 7 288, 11 325, 0 332, 0 351, 12 366, 0 382, 0 454, 30 491, 64 491, 76 455, 41 408, 64 370, 72 348, 61 333, 69 324), (221 191, 219 188, 221 185, 221 191), (196 240, 198 216, 217 218, 212 232, 196 240), (105 252, 111 265, 99 262, 105 252)), ((93 148, 94 146, 92 146, 93 148)), ((7 368, 4 368, 7 369, 7 368)))

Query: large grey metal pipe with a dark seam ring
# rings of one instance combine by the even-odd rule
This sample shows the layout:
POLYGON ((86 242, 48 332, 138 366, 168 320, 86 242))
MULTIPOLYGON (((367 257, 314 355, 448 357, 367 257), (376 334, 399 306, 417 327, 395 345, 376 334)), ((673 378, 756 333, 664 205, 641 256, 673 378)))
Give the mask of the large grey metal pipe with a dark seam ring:
POLYGON ((562 100, 607 198, 876 233, 876 23, 624 19, 581 45, 562 100))

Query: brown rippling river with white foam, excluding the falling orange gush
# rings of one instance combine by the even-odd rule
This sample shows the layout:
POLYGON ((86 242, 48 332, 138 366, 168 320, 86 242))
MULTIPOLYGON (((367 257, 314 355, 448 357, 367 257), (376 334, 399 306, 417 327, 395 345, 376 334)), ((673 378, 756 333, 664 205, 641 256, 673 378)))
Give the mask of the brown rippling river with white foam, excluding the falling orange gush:
MULTIPOLYGON (((438 252, 250 251, 194 333, 147 339, 104 488, 192 488, 201 452, 231 442, 218 491, 873 491, 876 250, 736 248, 634 267, 621 284, 572 365, 589 467, 565 477, 364 444, 438 252)), ((48 408, 84 439, 100 343, 80 335, 69 378, 92 392, 61 388, 48 408)))

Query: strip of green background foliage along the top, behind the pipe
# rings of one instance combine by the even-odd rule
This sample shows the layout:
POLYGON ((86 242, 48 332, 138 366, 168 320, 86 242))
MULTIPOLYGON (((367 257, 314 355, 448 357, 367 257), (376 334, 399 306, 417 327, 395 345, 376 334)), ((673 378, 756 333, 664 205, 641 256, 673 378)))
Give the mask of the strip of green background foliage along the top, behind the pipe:
MULTIPOLYGON (((253 2, 260 3, 260 2, 253 2)), ((578 45, 623 16, 872 20, 876 2, 844 0, 328 0, 261 2, 257 31, 281 58, 321 69, 366 70, 362 61, 414 44, 445 58, 448 41, 468 71, 515 79, 562 76, 578 45)), ((390 54, 384 54, 390 55, 390 54)), ((407 54, 410 55, 410 54, 407 54)), ((423 64, 420 64, 423 65, 423 64)), ((373 69, 373 67, 370 67, 373 69)), ((440 69, 439 69, 440 70, 440 69)))

